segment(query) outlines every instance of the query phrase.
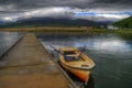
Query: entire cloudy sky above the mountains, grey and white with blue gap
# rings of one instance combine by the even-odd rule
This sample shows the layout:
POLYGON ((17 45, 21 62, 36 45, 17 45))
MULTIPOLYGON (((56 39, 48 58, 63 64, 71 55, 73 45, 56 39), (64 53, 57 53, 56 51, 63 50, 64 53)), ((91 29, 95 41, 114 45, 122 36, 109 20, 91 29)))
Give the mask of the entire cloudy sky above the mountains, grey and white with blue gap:
POLYGON ((132 0, 0 0, 0 21, 68 18, 119 21, 132 15, 132 0))

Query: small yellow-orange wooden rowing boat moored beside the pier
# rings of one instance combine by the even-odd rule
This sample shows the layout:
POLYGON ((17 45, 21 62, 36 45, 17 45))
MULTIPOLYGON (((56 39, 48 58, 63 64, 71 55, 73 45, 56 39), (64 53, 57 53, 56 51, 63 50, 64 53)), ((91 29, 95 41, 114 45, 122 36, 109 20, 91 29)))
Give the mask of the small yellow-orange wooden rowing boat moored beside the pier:
POLYGON ((95 63, 78 48, 59 48, 59 52, 61 65, 87 82, 95 63))

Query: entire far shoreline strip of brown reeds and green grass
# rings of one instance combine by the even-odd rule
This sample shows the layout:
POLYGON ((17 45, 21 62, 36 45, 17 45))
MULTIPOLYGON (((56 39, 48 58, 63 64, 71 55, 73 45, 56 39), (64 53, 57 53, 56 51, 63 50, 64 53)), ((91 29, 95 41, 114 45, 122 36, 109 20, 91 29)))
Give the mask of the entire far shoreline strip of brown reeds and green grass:
POLYGON ((38 28, 11 28, 0 29, 1 32, 43 32, 43 33, 121 33, 132 34, 132 29, 129 30, 105 30, 95 29, 92 26, 38 26, 38 28))

